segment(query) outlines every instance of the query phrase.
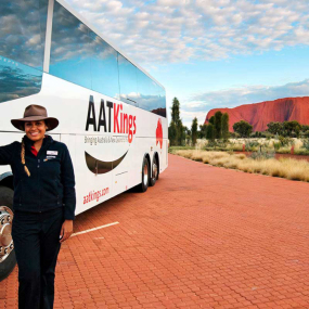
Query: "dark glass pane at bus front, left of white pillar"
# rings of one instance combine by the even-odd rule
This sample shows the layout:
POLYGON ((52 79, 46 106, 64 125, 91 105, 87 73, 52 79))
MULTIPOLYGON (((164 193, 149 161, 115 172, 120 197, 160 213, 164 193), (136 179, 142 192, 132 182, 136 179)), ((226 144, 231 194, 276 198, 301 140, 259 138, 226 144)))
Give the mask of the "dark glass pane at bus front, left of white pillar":
POLYGON ((48 0, 0 1, 0 103, 41 89, 48 0))

